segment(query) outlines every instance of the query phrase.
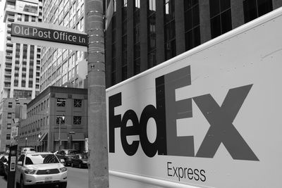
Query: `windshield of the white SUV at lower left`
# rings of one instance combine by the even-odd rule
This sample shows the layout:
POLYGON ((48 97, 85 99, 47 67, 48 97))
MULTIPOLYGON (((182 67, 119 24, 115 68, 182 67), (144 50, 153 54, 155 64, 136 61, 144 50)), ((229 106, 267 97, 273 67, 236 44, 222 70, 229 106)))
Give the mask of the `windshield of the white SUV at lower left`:
POLYGON ((25 165, 59 163, 54 154, 33 154, 25 158, 25 165))

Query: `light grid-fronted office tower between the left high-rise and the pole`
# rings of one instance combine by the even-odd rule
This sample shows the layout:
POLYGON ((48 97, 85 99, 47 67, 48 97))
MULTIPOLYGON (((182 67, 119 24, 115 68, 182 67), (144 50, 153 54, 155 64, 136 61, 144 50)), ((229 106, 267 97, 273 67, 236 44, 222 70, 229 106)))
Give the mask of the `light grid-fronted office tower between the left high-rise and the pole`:
MULTIPOLYGON (((43 22, 75 30, 85 30, 83 0, 47 0, 43 3, 43 22)), ((40 91, 47 87, 85 88, 87 63, 82 51, 42 47, 40 91)))

